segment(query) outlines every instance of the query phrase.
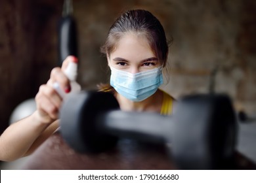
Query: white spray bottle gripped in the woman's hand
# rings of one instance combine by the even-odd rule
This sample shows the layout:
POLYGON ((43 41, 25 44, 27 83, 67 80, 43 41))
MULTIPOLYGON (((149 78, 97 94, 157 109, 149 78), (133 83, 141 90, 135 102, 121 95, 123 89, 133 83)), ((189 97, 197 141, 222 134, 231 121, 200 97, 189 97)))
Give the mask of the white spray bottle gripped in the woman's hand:
MULTIPOLYGON (((81 86, 76 82, 77 78, 77 59, 72 59, 69 63, 66 69, 64 70, 64 74, 68 77, 70 80, 70 86, 71 91, 70 93, 79 92, 81 90, 81 86)), ((60 85, 58 82, 54 82, 53 88, 60 94, 62 98, 66 97, 66 95, 70 93, 65 93, 62 88, 60 88, 60 85)))

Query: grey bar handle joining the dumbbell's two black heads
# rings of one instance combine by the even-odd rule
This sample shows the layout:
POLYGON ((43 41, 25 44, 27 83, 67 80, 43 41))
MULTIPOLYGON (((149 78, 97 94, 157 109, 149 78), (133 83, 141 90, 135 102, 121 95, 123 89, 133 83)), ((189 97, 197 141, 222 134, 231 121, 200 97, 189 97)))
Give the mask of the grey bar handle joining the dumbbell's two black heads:
POLYGON ((153 112, 112 110, 98 115, 96 124, 100 132, 108 135, 163 143, 170 141, 173 122, 171 116, 153 112))

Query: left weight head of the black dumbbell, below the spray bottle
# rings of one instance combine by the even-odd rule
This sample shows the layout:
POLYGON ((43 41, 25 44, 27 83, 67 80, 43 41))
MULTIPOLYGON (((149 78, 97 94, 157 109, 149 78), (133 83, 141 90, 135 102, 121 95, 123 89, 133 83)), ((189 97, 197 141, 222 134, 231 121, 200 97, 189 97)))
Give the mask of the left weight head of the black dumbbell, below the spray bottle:
POLYGON ((104 135, 92 122, 101 112, 118 108, 112 93, 82 91, 70 94, 60 110, 62 137, 77 152, 101 152, 111 148, 117 138, 104 135))

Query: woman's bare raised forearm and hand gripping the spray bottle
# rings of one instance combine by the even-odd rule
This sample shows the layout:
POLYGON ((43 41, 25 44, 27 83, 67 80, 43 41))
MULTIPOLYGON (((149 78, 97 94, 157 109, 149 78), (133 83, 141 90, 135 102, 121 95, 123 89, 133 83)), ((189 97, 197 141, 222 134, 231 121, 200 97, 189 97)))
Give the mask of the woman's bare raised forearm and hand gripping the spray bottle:
POLYGON ((69 56, 62 68, 54 68, 47 84, 39 88, 35 96, 37 110, 32 115, 10 125, 0 137, 0 160, 13 161, 31 154, 58 128, 58 112, 62 97, 54 90, 53 83, 58 82, 62 90, 70 92, 70 82, 63 71, 71 59, 69 56))

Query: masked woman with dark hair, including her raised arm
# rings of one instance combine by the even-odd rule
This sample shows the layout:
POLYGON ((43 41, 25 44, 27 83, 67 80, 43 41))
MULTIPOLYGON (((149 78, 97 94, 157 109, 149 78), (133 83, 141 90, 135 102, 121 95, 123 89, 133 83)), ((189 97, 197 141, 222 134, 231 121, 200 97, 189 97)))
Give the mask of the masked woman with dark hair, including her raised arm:
MULTIPOLYGON (((162 70, 167 62, 168 42, 159 20, 146 10, 129 10, 110 27, 101 51, 111 69, 110 84, 100 85, 101 92, 112 92, 121 110, 148 111, 169 115, 173 97, 161 91, 162 70)), ((0 160, 12 161, 28 156, 58 128, 58 112, 62 97, 54 90, 54 82, 70 92, 70 82, 62 68, 54 68, 47 84, 35 96, 37 110, 10 125, 0 137, 0 160)))

